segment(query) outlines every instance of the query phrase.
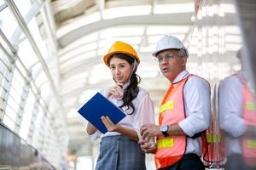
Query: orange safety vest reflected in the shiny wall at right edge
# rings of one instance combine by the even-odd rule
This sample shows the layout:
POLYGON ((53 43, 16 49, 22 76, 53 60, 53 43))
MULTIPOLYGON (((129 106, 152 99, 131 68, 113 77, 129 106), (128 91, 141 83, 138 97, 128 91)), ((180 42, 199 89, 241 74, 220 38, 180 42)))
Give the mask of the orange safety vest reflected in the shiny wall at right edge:
MULTIPOLYGON (((253 94, 247 87, 244 77, 234 75, 242 82, 243 112, 242 117, 247 126, 256 128, 256 102, 253 94)), ((245 163, 250 167, 256 167, 256 137, 243 136, 241 138, 242 156, 245 163)))

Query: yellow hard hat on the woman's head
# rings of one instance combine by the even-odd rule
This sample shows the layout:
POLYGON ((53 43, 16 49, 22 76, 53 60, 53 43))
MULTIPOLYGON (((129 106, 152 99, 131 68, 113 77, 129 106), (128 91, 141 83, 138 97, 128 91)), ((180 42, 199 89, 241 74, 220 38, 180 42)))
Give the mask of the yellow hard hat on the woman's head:
POLYGON ((108 50, 108 54, 105 54, 103 57, 105 65, 108 65, 108 58, 111 55, 118 54, 118 53, 128 54, 137 60, 137 64, 140 63, 140 59, 137 56, 135 49, 132 48, 130 44, 125 43, 125 42, 114 42, 113 46, 111 46, 111 48, 108 50))

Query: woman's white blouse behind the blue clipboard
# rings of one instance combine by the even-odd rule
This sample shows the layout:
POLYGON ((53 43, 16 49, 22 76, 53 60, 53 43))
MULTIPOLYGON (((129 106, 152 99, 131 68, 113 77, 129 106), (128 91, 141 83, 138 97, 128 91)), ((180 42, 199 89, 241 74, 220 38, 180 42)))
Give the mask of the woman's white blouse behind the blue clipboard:
MULTIPOLYGON (((106 96, 108 89, 104 89, 101 91, 101 94, 106 96)), ((123 104, 122 100, 118 99, 109 99, 113 102, 114 105, 120 106, 123 104)), ((149 97, 148 92, 143 89, 139 88, 139 93, 137 94, 137 98, 132 100, 132 104, 134 105, 135 111, 132 115, 128 115, 127 113, 131 113, 131 108, 127 111, 126 116, 122 119, 119 124, 123 127, 128 127, 137 132, 139 139, 141 139, 140 128, 145 124, 155 124, 154 122, 154 105, 152 100, 149 97)), ((125 107, 123 108, 125 109, 125 107)), ((120 133, 116 132, 108 132, 105 134, 96 131, 96 133, 90 135, 90 139, 96 140, 97 138, 113 136, 113 135, 120 135, 120 133)))

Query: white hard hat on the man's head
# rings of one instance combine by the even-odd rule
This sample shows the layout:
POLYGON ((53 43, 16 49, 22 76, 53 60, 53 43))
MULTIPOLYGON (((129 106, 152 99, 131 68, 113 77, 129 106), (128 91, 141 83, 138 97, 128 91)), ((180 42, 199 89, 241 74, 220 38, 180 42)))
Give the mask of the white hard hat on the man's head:
POLYGON ((156 57, 156 54, 166 49, 183 49, 187 57, 189 57, 188 50, 184 47, 183 42, 177 39, 177 37, 172 36, 162 37, 160 41, 157 42, 155 52, 152 55, 156 57))

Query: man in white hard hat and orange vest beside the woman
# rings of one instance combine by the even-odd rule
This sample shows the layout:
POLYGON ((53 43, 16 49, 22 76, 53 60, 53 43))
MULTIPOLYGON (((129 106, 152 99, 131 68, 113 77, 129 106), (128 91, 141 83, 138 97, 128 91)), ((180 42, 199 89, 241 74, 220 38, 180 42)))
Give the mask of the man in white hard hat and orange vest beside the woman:
POLYGON ((186 71, 188 51, 176 37, 165 36, 157 43, 154 57, 160 71, 171 82, 160 105, 159 126, 141 128, 141 148, 154 153, 157 169, 205 169, 200 159, 201 133, 210 123, 210 86, 186 71), (157 144, 148 140, 157 137, 157 144))

